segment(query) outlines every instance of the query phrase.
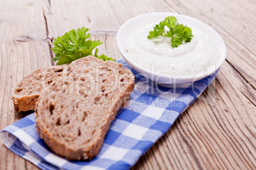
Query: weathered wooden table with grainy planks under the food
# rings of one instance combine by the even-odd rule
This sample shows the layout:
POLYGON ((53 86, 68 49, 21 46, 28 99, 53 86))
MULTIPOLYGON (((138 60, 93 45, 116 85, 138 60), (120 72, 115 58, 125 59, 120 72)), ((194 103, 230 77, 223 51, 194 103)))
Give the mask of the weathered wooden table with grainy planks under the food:
MULTIPOLYGON (((130 18, 172 12, 208 23, 222 36, 227 59, 203 95, 187 109, 132 169, 256 169, 253 0, 0 1, 0 129, 22 119, 11 91, 25 74, 55 65, 53 39, 89 27, 99 51, 120 58, 116 36, 130 18)), ((38 169, 0 140, 0 169, 38 169)))

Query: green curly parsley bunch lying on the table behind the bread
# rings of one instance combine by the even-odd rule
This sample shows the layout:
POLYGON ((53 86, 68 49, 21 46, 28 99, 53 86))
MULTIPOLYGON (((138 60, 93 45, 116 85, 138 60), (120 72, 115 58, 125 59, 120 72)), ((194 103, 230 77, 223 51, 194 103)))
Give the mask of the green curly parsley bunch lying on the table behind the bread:
MULTIPOLYGON (((92 55, 92 50, 100 44, 103 44, 100 40, 88 40, 90 37, 90 33, 87 34, 88 31, 88 28, 85 29, 85 27, 82 27, 82 29, 70 30, 66 32, 64 36, 54 39, 52 51, 55 53, 55 57, 53 60, 55 62, 58 60, 57 65, 71 63, 79 58, 92 55)), ((99 50, 96 48, 94 52, 95 57, 104 61, 115 61, 115 59, 111 57, 108 58, 106 55, 98 56, 98 51, 99 50)))

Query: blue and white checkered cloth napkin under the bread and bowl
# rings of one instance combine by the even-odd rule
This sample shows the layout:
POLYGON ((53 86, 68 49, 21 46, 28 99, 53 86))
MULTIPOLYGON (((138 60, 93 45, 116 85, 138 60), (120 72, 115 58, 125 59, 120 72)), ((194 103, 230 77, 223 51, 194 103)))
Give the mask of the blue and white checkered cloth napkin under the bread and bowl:
MULTIPOLYGON (((118 60, 124 67, 131 67, 118 60)), ((132 69, 131 69, 132 70, 132 69)), ((177 117, 206 89, 215 74, 189 88, 156 87, 134 73, 135 88, 118 110, 99 154, 89 162, 69 161, 53 154, 36 132, 34 114, 1 131, 4 145, 41 169, 129 169, 171 127, 177 117)))

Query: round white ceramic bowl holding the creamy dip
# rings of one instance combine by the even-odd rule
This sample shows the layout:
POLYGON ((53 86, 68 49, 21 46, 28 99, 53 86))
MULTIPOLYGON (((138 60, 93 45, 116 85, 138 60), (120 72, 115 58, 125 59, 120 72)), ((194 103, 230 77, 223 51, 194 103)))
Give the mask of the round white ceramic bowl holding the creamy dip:
POLYGON ((220 35, 215 30, 199 20, 176 13, 146 13, 131 18, 130 20, 125 22, 118 30, 117 46, 122 56, 124 56, 125 61, 129 65, 131 65, 132 69, 136 70, 136 72, 141 75, 145 75, 160 86, 168 88, 187 87, 193 82, 203 79, 210 74, 213 74, 217 69, 220 68, 226 56, 225 43, 222 37, 220 37, 220 35), (202 68, 203 71, 196 75, 162 76, 160 75, 161 73, 152 72, 151 70, 145 69, 144 67, 141 67, 141 65, 139 65, 138 63, 134 62, 131 58, 129 58, 126 52, 126 45, 134 32, 145 28, 146 25, 159 23, 160 21, 164 20, 166 16, 176 16, 179 23, 183 23, 183 25, 187 25, 188 27, 204 32, 205 34, 210 36, 213 41, 215 41, 215 43, 217 44, 217 48, 220 51, 220 59, 217 63, 215 63, 214 67, 211 66, 208 68, 202 68))

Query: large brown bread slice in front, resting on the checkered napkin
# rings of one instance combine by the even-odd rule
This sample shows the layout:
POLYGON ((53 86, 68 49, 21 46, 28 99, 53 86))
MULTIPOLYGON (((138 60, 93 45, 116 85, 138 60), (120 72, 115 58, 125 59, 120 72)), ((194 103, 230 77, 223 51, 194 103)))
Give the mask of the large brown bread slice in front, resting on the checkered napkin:
POLYGON ((36 129, 53 152, 69 160, 92 159, 111 121, 129 100, 134 75, 122 64, 94 56, 72 62, 52 93, 36 105, 36 129))

